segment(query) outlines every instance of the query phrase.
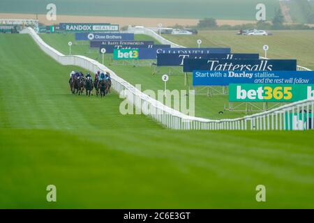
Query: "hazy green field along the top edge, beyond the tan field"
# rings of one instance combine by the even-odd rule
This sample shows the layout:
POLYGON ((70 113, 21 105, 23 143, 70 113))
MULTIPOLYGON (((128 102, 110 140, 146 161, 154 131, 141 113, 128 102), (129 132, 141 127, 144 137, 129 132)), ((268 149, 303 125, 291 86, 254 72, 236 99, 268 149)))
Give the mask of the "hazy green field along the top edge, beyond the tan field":
MULTIPOLYGON (((1 13, 46 14, 48 0, 1 0, 1 13)), ((103 15, 115 17, 214 17, 227 20, 255 20, 259 0, 54 0, 59 15, 103 15)), ((274 17, 277 0, 263 0, 267 20, 274 17)), ((105 21, 104 21, 105 22, 105 21)), ((158 22, 157 22, 158 23, 158 22)))

